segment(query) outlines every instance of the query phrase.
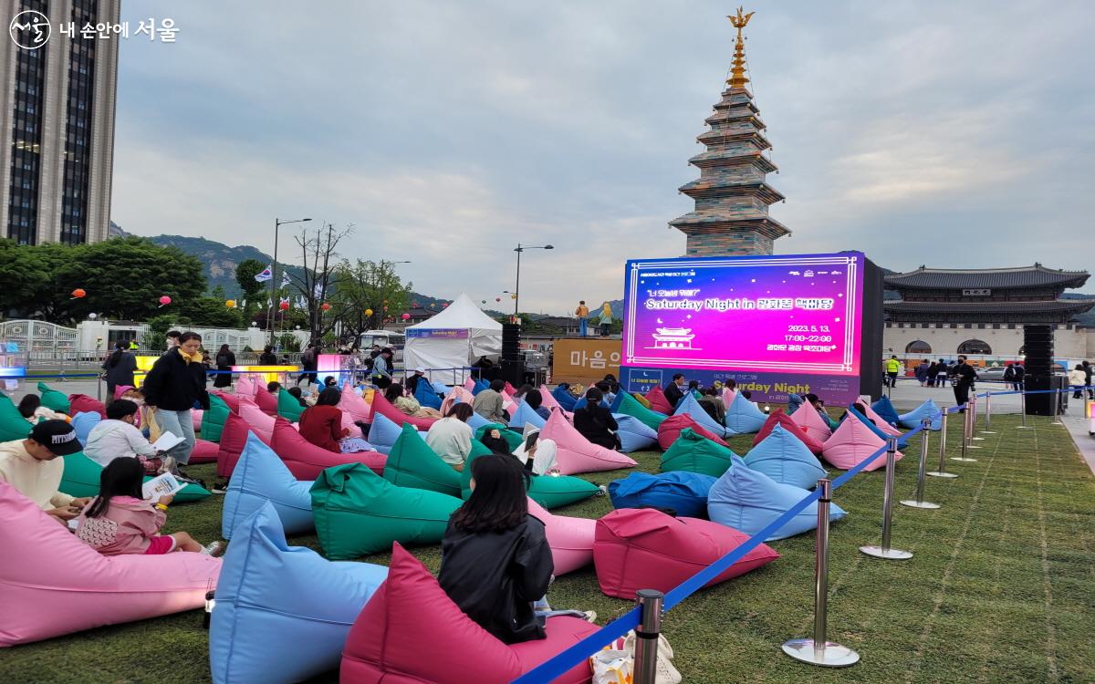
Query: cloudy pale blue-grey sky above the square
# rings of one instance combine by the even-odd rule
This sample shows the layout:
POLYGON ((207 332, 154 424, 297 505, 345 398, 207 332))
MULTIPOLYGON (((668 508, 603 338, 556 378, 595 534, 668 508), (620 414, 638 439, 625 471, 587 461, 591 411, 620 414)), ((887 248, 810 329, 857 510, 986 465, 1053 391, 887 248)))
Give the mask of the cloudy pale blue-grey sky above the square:
MULTIPOLYGON (((514 289, 518 242, 551 243, 522 259, 521 304, 554 313, 621 297, 626 258, 683 253, 667 222, 692 209, 677 187, 727 76, 726 2, 122 4, 180 28, 120 47, 130 232, 270 251, 275 217, 309 216, 356 227, 344 256, 475 299, 514 289)), ((1091 2, 746 9, 779 253, 1095 266, 1091 2)))

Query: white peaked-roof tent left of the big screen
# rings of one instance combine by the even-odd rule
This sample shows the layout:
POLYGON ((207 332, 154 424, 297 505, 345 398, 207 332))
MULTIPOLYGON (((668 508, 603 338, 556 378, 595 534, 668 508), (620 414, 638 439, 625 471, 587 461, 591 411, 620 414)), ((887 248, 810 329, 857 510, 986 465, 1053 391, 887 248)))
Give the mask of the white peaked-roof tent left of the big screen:
MULTIPOLYGON (((407 371, 471 366, 480 357, 502 353, 502 324, 483 313, 472 298, 461 294, 447 309, 406 328, 403 363, 407 371)), ((430 370, 430 382, 462 383, 465 371, 430 370)))

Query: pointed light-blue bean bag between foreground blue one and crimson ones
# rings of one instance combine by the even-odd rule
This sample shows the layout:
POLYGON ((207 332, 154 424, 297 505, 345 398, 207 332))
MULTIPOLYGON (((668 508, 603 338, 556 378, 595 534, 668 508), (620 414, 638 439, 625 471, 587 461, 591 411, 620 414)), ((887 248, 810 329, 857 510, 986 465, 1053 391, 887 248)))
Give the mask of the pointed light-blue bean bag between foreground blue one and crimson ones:
POLYGON ((274 507, 287 534, 311 531, 315 526, 311 488, 311 482, 293 477, 274 450, 249 432, 247 443, 228 480, 220 535, 232 538, 235 528, 267 502, 274 507))

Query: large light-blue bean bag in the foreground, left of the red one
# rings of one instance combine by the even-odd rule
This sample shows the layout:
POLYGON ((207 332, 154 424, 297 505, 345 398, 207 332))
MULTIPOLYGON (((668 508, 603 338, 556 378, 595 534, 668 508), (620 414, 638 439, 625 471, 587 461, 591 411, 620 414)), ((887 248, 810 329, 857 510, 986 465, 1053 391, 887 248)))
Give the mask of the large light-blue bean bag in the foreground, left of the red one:
POLYGON ((299 682, 334 670, 350 626, 387 578, 381 566, 289 546, 277 511, 264 503, 224 554, 209 626, 212 681, 299 682))

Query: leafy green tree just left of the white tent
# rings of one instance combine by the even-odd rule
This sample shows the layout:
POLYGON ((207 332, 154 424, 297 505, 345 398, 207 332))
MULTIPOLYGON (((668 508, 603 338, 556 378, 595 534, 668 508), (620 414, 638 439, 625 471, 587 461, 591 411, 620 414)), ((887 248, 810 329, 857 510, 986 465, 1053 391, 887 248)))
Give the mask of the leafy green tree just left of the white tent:
POLYGON ((357 340, 361 333, 383 326, 384 308, 403 311, 411 303, 411 282, 402 282, 389 262, 350 263, 344 259, 334 273, 332 317, 343 325, 343 335, 357 340), (366 315, 366 311, 372 315, 366 315))

